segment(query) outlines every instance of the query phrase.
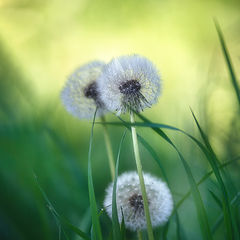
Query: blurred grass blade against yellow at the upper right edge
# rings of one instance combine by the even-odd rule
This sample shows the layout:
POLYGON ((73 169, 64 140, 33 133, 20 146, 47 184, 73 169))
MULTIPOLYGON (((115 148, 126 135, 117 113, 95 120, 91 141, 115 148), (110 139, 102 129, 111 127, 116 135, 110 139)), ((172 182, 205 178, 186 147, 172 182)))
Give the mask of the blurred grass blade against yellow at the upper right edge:
POLYGON ((239 88, 239 85, 238 85, 238 82, 237 82, 237 77, 236 77, 236 73, 235 73, 234 68, 233 68, 231 57, 230 57, 229 51, 227 49, 227 46, 226 46, 226 43, 225 43, 225 40, 224 40, 222 30, 220 28, 220 25, 218 24, 217 20, 214 20, 214 23, 215 23, 215 27, 216 27, 216 30, 217 30, 217 33, 218 33, 219 40, 220 40, 223 55, 224 55, 226 63, 227 63, 228 71, 229 71, 230 76, 231 76, 231 82, 232 82, 233 88, 234 88, 235 93, 236 93, 238 104, 240 106, 240 88, 239 88))

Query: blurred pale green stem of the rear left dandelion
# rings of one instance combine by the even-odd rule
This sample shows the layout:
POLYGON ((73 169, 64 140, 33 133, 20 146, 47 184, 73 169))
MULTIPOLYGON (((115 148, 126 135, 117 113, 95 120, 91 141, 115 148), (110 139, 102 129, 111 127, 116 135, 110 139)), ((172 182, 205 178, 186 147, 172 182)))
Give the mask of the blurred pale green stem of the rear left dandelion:
MULTIPOLYGON (((105 118, 104 116, 101 117, 101 120, 103 123, 105 123, 105 118)), ((110 173, 112 180, 114 180, 115 177, 115 163, 114 163, 114 157, 113 157, 113 151, 112 151, 112 145, 109 137, 109 132, 107 129, 107 125, 103 124, 103 135, 104 135, 104 140, 106 144, 106 149, 107 149, 107 155, 108 155, 108 163, 110 167, 110 173)))

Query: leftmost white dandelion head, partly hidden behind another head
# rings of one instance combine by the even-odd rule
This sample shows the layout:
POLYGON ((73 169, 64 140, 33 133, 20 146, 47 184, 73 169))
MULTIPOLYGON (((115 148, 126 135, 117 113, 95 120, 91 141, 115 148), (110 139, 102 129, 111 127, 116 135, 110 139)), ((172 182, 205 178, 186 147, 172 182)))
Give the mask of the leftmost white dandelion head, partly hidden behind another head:
POLYGON ((61 92, 61 99, 67 111, 75 117, 92 119, 96 107, 97 116, 106 113, 96 84, 104 66, 104 62, 92 61, 69 76, 61 92))

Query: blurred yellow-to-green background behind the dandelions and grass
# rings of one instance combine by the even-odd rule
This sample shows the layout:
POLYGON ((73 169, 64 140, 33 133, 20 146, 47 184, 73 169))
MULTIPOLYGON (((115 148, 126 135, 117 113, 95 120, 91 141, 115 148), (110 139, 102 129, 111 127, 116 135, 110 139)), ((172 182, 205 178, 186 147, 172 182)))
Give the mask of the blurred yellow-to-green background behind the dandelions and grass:
MULTIPOLYGON (((0 239, 58 239, 59 228, 34 180, 34 173, 56 210, 89 231, 87 153, 91 124, 70 116, 59 93, 76 67, 100 59, 138 53, 151 59, 163 79, 159 103, 144 112, 154 122, 197 135, 189 107, 224 162, 240 155, 237 100, 213 18, 223 29, 240 76, 239 1, 157 0, 0 0, 0 239)), ((125 116, 127 119, 127 115, 125 116)), ((116 121, 114 116, 108 120, 116 121)), ((116 156, 122 127, 109 127, 116 156)), ((149 129, 139 133, 154 147, 170 180, 175 201, 189 189, 173 149, 149 129)), ((196 180, 210 170, 199 149, 169 132, 196 180)), ((144 170, 161 176, 141 146, 144 170)), ((135 169, 127 135, 120 172, 135 169)), ((239 164, 228 167, 240 187, 239 164)), ((93 176, 99 209, 110 182, 102 128, 95 128, 93 176)), ((220 214, 208 190, 200 187, 209 221, 220 214)), ((228 189, 231 198, 233 189, 228 189)), ((239 211, 239 208, 238 208, 239 211)), ((201 239, 190 197, 180 208, 184 239, 201 239)), ((110 220, 103 214, 108 236, 110 220)), ((171 221, 169 239, 176 238, 171 221)), ((68 232, 68 230, 66 230, 68 232)), ((79 239, 68 232, 70 239, 79 239)), ((130 234, 131 235, 131 234, 130 234)), ((216 239, 222 239, 221 228, 216 239)))

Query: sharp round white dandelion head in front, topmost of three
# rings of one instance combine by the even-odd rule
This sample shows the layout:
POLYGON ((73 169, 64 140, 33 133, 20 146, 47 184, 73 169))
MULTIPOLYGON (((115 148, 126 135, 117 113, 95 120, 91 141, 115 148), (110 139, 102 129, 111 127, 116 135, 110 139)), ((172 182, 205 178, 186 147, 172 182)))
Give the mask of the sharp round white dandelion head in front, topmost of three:
POLYGON ((100 97, 109 111, 137 112, 156 103, 161 80, 156 67, 139 55, 114 58, 99 77, 100 97))

